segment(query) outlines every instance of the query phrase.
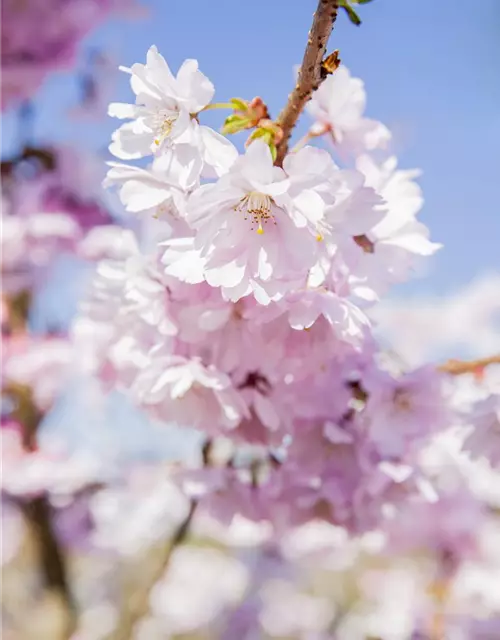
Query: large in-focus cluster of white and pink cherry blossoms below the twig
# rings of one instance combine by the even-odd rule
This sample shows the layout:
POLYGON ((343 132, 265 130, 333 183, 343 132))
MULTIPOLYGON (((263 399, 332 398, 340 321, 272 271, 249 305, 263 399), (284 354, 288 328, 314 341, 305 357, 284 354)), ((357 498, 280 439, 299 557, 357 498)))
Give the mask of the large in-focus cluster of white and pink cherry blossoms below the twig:
POLYGON ((311 103, 355 161, 305 146, 276 166, 263 140, 239 154, 200 124, 214 88, 196 61, 174 76, 151 47, 125 71, 136 104, 110 106, 129 119, 110 151, 152 162, 110 163, 106 184, 157 220, 156 242, 98 268, 85 322, 102 378, 156 420, 232 442, 217 472, 179 480, 220 517, 359 532, 424 500, 420 453, 451 418, 442 376, 381 363, 366 311, 439 245, 416 219, 416 172, 366 154, 388 135, 362 117, 361 81, 340 67, 311 103))

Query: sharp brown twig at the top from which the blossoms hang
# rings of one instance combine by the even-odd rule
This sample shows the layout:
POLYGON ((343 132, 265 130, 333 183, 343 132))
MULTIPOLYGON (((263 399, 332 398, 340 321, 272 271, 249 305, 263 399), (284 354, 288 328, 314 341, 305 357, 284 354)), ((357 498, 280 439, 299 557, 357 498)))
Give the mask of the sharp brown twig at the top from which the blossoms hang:
POLYGON ((300 67, 295 89, 288 97, 288 102, 279 114, 276 123, 283 130, 283 139, 278 144, 275 164, 281 166, 288 151, 288 141, 306 102, 326 77, 322 73, 323 57, 326 52, 328 38, 337 18, 338 0, 319 0, 314 14, 311 30, 307 40, 304 59, 300 67))

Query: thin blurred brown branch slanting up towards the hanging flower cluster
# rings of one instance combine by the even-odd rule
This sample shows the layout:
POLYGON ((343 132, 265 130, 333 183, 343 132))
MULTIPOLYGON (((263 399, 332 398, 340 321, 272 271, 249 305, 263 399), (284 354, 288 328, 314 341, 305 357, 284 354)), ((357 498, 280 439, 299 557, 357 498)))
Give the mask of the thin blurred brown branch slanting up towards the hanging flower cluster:
POLYGON ((151 591, 154 586, 161 579, 168 569, 170 560, 172 559, 175 549, 181 545, 186 539, 191 522, 194 518, 196 508, 198 506, 197 500, 191 500, 189 511, 184 520, 179 524, 174 532, 174 535, 167 541, 162 550, 163 558, 161 562, 154 568, 152 575, 147 580, 147 584, 133 594, 133 597, 126 602, 125 611, 122 612, 122 617, 118 623, 116 629, 110 634, 109 640, 130 640, 134 638, 135 628, 138 622, 144 618, 149 611, 149 600, 151 591))

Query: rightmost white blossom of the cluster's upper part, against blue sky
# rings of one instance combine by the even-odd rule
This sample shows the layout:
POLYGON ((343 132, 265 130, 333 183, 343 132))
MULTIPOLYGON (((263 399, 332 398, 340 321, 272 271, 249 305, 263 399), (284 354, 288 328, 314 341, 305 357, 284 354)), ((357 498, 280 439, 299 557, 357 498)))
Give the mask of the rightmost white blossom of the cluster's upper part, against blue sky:
POLYGON ((364 176, 364 190, 371 190, 379 200, 358 190, 341 203, 348 206, 342 216, 351 222, 343 226, 348 229, 350 225, 351 234, 337 239, 330 250, 332 258, 316 265, 310 281, 321 284, 330 269, 330 279, 337 287, 340 277, 347 290, 366 304, 377 301, 392 284, 406 280, 441 245, 429 240, 427 227, 416 219, 423 206, 421 189, 414 180, 418 171, 396 170, 394 157, 377 164, 363 155, 356 166, 364 176), (358 213, 362 211, 364 216, 358 213))

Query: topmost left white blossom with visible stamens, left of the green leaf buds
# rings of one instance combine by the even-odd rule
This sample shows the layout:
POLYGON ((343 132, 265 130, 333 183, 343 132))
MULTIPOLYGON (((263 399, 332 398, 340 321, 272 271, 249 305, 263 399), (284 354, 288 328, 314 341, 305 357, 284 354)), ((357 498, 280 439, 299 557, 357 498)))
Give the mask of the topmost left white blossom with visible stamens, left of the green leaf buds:
POLYGON ((118 158, 142 158, 165 147, 187 144, 193 156, 200 155, 216 175, 224 173, 237 152, 229 140, 196 118, 211 101, 214 86, 198 69, 196 60, 185 60, 174 77, 155 46, 146 64, 131 69, 131 87, 136 104, 112 103, 109 115, 131 119, 113 134, 110 151, 118 158))

